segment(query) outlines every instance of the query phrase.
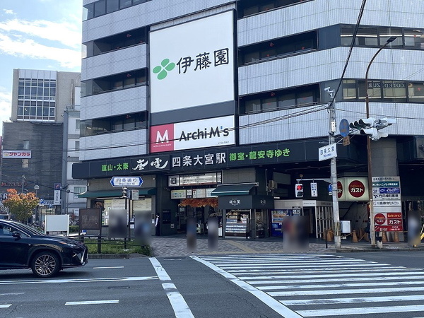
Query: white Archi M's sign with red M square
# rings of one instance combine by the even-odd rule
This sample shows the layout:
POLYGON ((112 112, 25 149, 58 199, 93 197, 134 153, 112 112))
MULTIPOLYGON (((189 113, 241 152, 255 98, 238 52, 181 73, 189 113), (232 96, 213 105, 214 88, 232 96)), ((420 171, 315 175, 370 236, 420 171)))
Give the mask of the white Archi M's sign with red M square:
POLYGON ((150 140, 151 153, 234 145, 234 116, 151 126, 150 140))

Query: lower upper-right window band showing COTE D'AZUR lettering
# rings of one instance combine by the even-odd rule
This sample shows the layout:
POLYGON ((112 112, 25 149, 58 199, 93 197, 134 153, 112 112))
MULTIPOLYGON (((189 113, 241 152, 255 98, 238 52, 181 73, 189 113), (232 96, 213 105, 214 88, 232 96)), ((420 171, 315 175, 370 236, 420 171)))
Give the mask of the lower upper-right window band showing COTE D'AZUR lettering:
MULTIPOLYGON (((424 102, 424 82, 368 80, 370 102, 424 102)), ((363 101, 365 81, 343 80, 343 100, 363 101)))

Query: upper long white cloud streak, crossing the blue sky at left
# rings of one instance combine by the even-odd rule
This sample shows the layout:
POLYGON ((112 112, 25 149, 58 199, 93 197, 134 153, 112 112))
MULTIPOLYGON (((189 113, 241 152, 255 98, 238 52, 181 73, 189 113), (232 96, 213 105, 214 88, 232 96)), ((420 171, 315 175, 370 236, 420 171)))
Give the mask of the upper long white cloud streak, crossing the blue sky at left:
POLYGON ((0 22, 0 30, 4 30, 6 33, 23 33, 27 37, 57 41, 67 47, 79 48, 81 46, 81 30, 78 28, 78 24, 66 21, 13 19, 0 22))

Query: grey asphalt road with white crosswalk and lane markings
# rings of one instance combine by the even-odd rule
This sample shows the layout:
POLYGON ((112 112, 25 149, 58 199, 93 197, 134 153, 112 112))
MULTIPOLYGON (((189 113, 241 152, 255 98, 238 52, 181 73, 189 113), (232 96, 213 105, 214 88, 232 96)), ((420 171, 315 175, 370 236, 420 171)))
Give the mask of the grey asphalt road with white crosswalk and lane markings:
POLYGON ((90 260, 0 271, 0 317, 423 317, 423 268, 423 252, 90 260))

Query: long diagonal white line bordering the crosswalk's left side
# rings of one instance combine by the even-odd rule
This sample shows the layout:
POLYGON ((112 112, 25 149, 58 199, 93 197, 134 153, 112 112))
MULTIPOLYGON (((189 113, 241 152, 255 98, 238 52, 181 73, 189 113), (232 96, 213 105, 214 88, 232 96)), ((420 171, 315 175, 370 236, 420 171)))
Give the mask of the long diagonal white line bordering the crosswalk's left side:
POLYGON ((293 312, 293 310, 290 310, 288 307, 285 307, 285 305, 281 304, 281 302, 278 302, 278 300, 273 299, 271 296, 267 295, 266 293, 264 293, 263 291, 257 288, 254 288, 253 286, 249 285, 245 281, 241 281, 239 278, 224 271, 223 269, 220 269, 218 266, 213 265, 210 262, 205 261, 204 259, 200 259, 199 257, 191 256, 191 258, 194 259, 195 261, 199 261, 201 264, 204 264, 205 266, 208 266, 213 271, 220 273, 220 275, 232 281, 232 283, 235 283, 235 285, 251 293, 256 298, 261 300, 261 302, 264 302, 264 304, 268 305, 275 312, 278 312, 278 314, 281 314, 281 316, 285 318, 302 318, 302 316, 300 316, 296 312, 293 312))

